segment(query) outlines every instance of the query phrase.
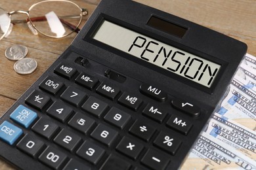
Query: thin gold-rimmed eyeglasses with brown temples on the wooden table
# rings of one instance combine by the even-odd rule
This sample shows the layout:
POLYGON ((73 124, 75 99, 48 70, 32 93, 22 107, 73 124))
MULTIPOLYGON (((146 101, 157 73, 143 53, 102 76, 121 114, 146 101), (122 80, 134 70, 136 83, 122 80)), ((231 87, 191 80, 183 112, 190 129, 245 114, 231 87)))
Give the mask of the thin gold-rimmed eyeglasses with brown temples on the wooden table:
POLYGON ((38 32, 53 38, 62 38, 72 32, 79 31, 83 16, 87 9, 66 0, 47 0, 33 4, 28 11, 16 10, 7 12, 0 8, 0 40, 7 37, 12 26, 18 23, 27 23, 34 35, 38 32), (11 20, 12 14, 26 14, 26 20, 11 20))

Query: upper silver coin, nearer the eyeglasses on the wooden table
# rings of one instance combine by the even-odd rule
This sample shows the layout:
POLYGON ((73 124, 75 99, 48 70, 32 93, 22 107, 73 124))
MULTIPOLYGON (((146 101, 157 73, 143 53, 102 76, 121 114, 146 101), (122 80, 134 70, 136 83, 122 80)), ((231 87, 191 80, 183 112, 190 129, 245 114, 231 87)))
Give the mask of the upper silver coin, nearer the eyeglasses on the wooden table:
POLYGON ((5 50, 5 57, 11 60, 18 60, 26 57, 28 48, 22 45, 10 46, 5 50))

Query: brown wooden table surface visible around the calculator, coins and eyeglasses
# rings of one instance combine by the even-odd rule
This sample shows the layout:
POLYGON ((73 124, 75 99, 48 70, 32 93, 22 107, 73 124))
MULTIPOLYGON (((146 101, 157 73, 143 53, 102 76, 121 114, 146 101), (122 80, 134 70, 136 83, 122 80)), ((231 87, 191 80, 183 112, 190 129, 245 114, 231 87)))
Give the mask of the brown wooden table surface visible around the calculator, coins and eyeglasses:
MULTIPOLYGON (((38 0, 1 0, 0 7, 12 10, 28 10, 38 0)), ((197 24, 215 29, 247 44, 249 54, 256 56, 256 2, 255 0, 136 0, 185 18, 197 24)), ((93 12, 99 0, 74 0, 80 7, 93 12)), ((12 18, 25 18, 14 15, 12 18)), ((29 88, 32 83, 64 52, 75 33, 63 39, 35 36, 26 24, 16 24, 11 35, 0 41, 0 115, 29 88), (5 58, 5 49, 14 44, 28 47, 29 58, 35 58, 38 67, 31 75, 18 75, 13 70, 14 61, 5 58)), ((0 160, 0 169, 12 169, 0 160)), ((195 167, 196 168, 196 167, 195 167)))

